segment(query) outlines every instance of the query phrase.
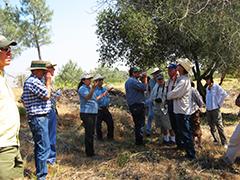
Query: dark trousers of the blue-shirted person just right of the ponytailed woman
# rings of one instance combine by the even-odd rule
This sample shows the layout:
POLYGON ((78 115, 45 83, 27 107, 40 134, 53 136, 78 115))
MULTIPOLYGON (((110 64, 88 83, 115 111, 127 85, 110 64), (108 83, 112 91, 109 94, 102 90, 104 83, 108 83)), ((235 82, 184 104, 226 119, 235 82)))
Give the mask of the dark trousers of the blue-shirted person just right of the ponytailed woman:
POLYGON ((114 132, 114 125, 113 125, 113 119, 112 115, 109 112, 108 108, 102 108, 98 110, 98 116, 97 116, 97 123, 96 123, 96 132, 97 132, 97 138, 102 139, 102 122, 106 122, 107 124, 107 130, 108 139, 113 139, 113 132, 114 132))

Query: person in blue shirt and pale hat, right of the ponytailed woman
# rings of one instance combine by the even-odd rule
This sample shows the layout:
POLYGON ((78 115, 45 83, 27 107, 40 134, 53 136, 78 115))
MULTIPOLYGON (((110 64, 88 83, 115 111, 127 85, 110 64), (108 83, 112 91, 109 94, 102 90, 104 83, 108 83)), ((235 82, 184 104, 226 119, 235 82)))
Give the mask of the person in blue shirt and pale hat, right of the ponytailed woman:
POLYGON ((113 140, 114 135, 114 125, 112 115, 108 110, 110 98, 108 92, 111 89, 107 89, 103 87, 103 79, 104 77, 100 74, 97 74, 93 80, 98 81, 98 86, 95 89, 95 95, 98 103, 98 116, 97 116, 97 123, 96 123, 96 132, 97 132, 97 139, 102 140, 102 121, 105 121, 107 124, 107 138, 108 140, 113 140))

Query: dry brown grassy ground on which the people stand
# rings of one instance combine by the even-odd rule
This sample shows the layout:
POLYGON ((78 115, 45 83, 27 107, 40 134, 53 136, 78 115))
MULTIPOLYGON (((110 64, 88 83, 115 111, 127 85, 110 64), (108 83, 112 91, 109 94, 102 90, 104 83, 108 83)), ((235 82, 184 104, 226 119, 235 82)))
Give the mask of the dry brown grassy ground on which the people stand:
MULTIPOLYGON (((229 139, 239 120, 239 109, 234 105, 233 99, 240 86, 237 81, 228 80, 223 87, 230 94, 222 109, 229 139)), ((19 98, 21 90, 15 89, 15 93, 19 98)), ((203 148, 196 148, 197 160, 188 161, 183 157, 182 151, 159 145, 157 132, 152 138, 146 139, 145 147, 136 147, 130 114, 124 108, 111 107, 115 141, 95 141, 97 156, 87 158, 84 153, 84 129, 79 118, 78 98, 63 97, 57 106, 57 164, 49 166, 48 179, 240 179, 240 162, 236 162, 233 167, 226 167, 221 163, 220 158, 226 150, 213 145, 205 123, 202 125, 203 148)), ((106 126, 103 127, 106 131, 106 126)), ((20 137, 25 178, 34 179, 33 142, 24 115, 21 116, 20 137)))

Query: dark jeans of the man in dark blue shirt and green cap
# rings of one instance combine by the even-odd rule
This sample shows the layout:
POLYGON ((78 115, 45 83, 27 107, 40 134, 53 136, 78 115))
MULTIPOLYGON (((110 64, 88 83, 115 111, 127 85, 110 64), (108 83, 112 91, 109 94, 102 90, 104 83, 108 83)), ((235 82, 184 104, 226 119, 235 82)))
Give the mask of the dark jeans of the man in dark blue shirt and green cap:
POLYGON ((133 104, 129 106, 134 121, 135 144, 143 144, 143 128, 145 124, 145 108, 144 104, 133 104))

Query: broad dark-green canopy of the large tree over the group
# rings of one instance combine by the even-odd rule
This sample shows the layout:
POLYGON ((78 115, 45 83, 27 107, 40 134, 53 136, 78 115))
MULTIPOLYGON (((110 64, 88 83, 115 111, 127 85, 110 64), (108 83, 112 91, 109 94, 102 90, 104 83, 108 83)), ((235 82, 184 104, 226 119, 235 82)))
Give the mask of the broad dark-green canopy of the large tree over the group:
POLYGON ((206 75, 232 73, 240 64, 238 0, 118 0, 99 13, 97 26, 103 64, 148 68, 187 57, 199 89, 206 75))

